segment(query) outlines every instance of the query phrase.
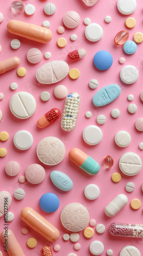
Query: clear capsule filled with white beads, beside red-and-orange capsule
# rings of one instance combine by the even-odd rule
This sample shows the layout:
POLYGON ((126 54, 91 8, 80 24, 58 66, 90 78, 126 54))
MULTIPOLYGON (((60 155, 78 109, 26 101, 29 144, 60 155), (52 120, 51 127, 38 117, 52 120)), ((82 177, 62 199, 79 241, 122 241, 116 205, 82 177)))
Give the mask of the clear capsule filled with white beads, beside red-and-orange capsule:
POLYGON ((61 119, 61 127, 64 131, 75 129, 80 101, 78 93, 72 92, 67 95, 61 119))

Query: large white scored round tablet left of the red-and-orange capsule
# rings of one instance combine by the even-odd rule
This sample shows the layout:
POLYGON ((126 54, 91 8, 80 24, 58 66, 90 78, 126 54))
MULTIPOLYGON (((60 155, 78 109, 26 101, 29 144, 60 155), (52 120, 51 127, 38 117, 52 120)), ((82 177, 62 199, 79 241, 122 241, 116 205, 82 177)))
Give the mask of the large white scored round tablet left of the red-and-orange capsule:
POLYGON ((15 93, 10 100, 10 110, 17 118, 27 119, 36 110, 36 100, 28 92, 15 93))

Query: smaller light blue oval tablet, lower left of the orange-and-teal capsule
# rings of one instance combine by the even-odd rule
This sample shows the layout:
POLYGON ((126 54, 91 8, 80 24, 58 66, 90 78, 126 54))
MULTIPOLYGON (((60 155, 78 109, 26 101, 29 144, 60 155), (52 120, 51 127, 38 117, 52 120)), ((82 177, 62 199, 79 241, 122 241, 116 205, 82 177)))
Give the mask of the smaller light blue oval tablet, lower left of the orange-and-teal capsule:
POLYGON ((69 191, 73 187, 73 181, 59 170, 53 170, 50 174, 50 178, 54 185, 63 191, 69 191))

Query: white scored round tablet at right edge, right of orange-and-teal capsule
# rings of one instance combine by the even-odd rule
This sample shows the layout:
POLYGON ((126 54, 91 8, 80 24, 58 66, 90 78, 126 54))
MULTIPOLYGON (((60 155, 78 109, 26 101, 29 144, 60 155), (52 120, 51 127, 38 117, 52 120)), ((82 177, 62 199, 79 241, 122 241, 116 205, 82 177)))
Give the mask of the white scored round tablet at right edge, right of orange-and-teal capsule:
POLYGON ((134 176, 139 173, 142 167, 142 161, 136 153, 127 152, 120 158, 119 167, 122 173, 127 176, 134 176))

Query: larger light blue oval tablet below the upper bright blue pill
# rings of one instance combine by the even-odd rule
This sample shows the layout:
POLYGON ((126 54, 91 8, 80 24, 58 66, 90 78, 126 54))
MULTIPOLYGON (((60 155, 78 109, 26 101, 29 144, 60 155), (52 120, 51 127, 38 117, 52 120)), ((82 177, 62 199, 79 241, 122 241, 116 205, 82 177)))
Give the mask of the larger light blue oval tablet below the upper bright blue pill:
POLYGON ((95 106, 105 106, 112 102, 121 93, 121 88, 117 84, 113 83, 109 86, 103 87, 92 98, 92 102, 95 106))

